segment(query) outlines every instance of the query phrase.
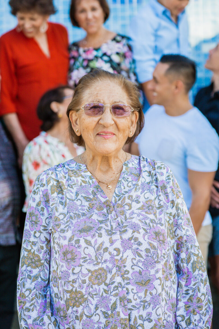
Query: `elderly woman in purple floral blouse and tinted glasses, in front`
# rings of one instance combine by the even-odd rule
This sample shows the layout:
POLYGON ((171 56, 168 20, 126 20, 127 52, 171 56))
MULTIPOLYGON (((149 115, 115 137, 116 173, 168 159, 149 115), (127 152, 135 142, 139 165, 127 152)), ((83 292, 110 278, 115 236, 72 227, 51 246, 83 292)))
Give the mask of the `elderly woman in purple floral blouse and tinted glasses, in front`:
POLYGON ((210 328, 205 264, 175 178, 122 150, 143 126, 137 87, 94 70, 67 114, 72 141, 86 151, 35 182, 18 277, 21 327, 210 328))

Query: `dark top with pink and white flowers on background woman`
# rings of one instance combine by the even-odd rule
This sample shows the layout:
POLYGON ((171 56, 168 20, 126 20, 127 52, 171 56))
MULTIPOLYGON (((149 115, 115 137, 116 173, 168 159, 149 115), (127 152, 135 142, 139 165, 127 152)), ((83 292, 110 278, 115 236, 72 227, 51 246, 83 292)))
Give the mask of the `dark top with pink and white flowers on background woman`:
POLYGON ((82 48, 78 42, 70 46, 69 85, 76 87, 79 79, 93 68, 119 73, 137 83, 135 64, 129 38, 117 34, 99 48, 82 48))

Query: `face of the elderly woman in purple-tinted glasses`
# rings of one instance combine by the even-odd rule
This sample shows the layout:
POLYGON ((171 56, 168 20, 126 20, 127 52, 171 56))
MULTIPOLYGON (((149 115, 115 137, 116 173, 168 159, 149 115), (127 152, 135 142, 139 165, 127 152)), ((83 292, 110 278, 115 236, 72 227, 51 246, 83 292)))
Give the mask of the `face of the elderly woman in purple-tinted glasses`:
POLYGON ((71 111, 73 129, 79 129, 87 150, 90 149, 100 155, 117 153, 124 146, 126 139, 135 133, 138 112, 134 111, 128 117, 117 117, 112 114, 110 105, 130 105, 130 101, 119 85, 108 80, 98 82, 86 91, 81 107, 87 103, 102 103, 105 110, 98 116, 89 116, 82 109, 79 112, 71 111))

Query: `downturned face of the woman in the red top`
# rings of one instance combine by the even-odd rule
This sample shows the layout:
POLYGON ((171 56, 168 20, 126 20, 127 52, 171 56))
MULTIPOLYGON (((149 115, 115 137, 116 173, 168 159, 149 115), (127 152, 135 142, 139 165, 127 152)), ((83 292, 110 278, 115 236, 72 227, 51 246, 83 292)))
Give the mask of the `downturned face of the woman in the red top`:
POLYGON ((45 24, 49 16, 36 12, 18 12, 16 14, 18 28, 27 38, 35 38, 40 33, 40 27, 45 24))

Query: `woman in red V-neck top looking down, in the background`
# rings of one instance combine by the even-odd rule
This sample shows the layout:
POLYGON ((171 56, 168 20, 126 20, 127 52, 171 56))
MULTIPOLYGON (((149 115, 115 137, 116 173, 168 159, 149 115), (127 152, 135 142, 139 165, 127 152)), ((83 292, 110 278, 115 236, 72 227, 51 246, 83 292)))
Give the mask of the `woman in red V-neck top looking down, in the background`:
POLYGON ((17 27, 0 38, 0 116, 18 153, 40 132, 36 107, 42 94, 67 83, 68 36, 60 24, 48 22, 52 0, 10 0, 17 27))

